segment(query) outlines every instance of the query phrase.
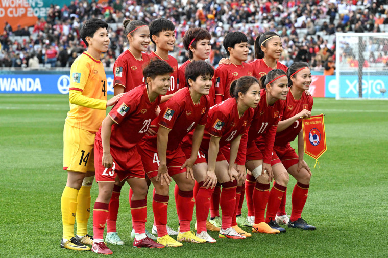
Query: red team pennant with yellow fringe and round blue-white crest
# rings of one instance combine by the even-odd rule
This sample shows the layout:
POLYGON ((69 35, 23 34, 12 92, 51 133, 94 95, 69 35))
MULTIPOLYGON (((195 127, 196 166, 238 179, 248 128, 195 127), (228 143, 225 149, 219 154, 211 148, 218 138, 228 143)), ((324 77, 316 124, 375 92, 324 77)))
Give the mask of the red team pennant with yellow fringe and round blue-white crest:
POLYGON ((312 116, 311 118, 302 119, 303 137, 304 137, 304 152, 314 158, 318 163, 318 158, 326 151, 326 134, 323 114, 312 116))

